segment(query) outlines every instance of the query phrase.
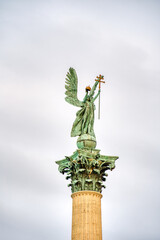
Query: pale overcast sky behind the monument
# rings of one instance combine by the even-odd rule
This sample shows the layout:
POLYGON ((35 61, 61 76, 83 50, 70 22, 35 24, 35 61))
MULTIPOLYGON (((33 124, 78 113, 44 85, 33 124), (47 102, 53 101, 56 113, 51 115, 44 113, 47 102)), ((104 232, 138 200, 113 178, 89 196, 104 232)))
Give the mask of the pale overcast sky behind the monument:
POLYGON ((71 238, 71 190, 55 164, 76 150, 69 67, 80 100, 98 74, 106 81, 97 148, 119 159, 103 239, 160 239, 159 23, 158 0, 0 1, 1 240, 71 238))

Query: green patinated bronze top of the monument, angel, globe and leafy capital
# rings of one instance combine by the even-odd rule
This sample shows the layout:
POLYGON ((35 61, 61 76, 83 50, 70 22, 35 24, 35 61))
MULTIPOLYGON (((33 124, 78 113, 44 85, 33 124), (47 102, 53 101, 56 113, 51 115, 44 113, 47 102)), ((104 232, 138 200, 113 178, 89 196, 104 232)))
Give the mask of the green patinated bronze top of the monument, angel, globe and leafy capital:
POLYGON ((94 101, 100 97, 100 84, 103 76, 99 75, 95 80, 92 89, 86 87, 86 95, 83 101, 77 98, 78 78, 73 68, 69 69, 66 77, 66 98, 70 104, 81 107, 76 114, 76 119, 71 130, 71 137, 79 136, 77 139, 78 149, 70 156, 61 161, 56 161, 59 165, 60 173, 66 173, 66 179, 71 179, 72 193, 77 191, 91 190, 102 192, 103 181, 106 180, 106 170, 115 168, 116 156, 100 155, 100 150, 95 149, 96 137, 94 133, 94 101), (99 91, 94 96, 99 84, 99 91))

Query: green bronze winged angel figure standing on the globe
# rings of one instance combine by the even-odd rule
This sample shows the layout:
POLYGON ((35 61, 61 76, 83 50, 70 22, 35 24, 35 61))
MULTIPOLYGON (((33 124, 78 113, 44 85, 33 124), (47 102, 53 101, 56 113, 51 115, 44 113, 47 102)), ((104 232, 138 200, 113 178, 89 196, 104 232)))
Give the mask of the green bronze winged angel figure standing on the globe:
POLYGON ((89 86, 86 87, 85 97, 83 101, 79 101, 77 98, 77 86, 78 86, 77 74, 73 68, 69 69, 69 72, 66 75, 65 100, 74 106, 81 107, 81 109, 76 113, 76 119, 73 123, 71 130, 71 137, 87 134, 95 138, 95 133, 93 129, 95 110, 94 101, 100 95, 100 87, 98 93, 95 96, 94 93, 98 83, 100 84, 100 79, 103 79, 103 76, 96 80, 92 88, 90 88, 89 86))

